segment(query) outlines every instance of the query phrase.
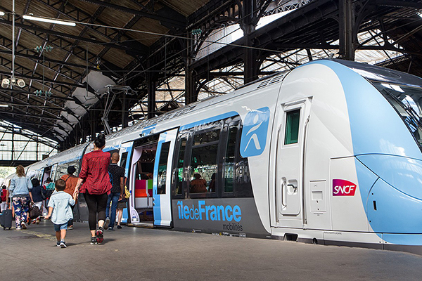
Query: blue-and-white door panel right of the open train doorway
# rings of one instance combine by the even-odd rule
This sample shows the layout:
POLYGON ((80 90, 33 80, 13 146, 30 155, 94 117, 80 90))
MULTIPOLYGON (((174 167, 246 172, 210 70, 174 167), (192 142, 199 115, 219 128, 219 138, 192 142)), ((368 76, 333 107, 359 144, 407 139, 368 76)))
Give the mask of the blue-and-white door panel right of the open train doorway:
POLYGON ((154 226, 172 226, 171 174, 177 129, 160 134, 153 176, 154 226))

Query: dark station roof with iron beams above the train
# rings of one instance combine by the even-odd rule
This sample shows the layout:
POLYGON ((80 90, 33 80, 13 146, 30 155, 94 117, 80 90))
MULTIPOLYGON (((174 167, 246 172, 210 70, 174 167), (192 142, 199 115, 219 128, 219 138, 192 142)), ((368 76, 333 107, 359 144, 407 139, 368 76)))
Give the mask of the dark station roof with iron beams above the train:
MULTIPOLYGON (((354 60, 359 50, 393 51, 382 66, 422 76, 422 11, 412 0, 15 0, 0 1, 0 79, 25 86, 0 88, 0 119, 60 143, 60 150, 110 127, 127 126, 180 105, 158 107, 158 86, 184 77, 185 103, 222 68, 243 63, 244 81, 268 74, 261 65, 294 50, 336 50, 354 60), (293 11, 257 29, 277 9, 293 11), (75 22, 25 20, 23 15, 75 22), (13 22, 15 36, 13 38, 13 22), (239 24, 245 36, 205 58, 197 56, 213 30, 239 24), (200 32, 195 32, 199 30, 200 32), (362 41, 360 32, 372 37, 362 41), (359 41, 360 40, 360 41, 359 41), (368 44, 369 41, 377 44, 368 44), (13 44, 14 43, 14 44, 13 44), (398 45, 397 45, 398 44, 398 45), (14 45, 14 48, 13 48, 14 45), (13 53, 15 58, 13 59, 13 53), (129 109, 147 102, 146 112, 129 109)), ((330 53, 326 53, 327 57, 330 53)))

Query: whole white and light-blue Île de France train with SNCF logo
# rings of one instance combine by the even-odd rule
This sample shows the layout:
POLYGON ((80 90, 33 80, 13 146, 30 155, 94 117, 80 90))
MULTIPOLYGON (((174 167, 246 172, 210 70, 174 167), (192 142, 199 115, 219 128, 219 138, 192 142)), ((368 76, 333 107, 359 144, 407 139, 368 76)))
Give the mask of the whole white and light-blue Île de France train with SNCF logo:
MULTIPOLYGON (((126 169, 130 223, 422 254, 421 105, 421 78, 317 60, 112 133, 104 151, 126 169)), ((27 171, 57 179, 90 150, 27 171)), ((87 219, 83 197, 75 212, 87 219)))

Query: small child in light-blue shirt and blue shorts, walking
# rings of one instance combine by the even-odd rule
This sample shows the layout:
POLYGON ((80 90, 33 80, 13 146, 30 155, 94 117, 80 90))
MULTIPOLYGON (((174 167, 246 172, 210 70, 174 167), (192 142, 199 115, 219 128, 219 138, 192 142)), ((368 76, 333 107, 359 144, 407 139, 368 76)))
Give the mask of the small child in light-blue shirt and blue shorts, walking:
POLYGON ((56 181, 56 191, 50 197, 49 214, 45 217, 46 219, 51 218, 54 224, 54 230, 56 230, 57 247, 65 248, 66 242, 66 230, 68 229, 68 221, 73 218, 72 209, 70 206, 75 205, 75 200, 78 195, 78 191, 75 190, 73 197, 68 193, 64 192, 66 183, 63 180, 56 181))

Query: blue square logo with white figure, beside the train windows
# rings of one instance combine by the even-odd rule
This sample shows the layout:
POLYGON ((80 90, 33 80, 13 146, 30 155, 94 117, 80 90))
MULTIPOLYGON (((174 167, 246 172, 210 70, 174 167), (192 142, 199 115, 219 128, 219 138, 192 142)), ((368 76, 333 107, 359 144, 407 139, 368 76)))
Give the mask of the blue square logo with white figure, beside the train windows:
POLYGON ((250 110, 245 117, 241 138, 241 155, 250 157, 260 155, 267 143, 269 108, 250 110))

